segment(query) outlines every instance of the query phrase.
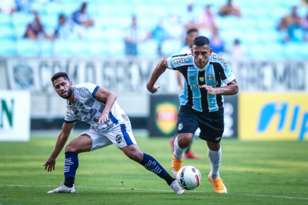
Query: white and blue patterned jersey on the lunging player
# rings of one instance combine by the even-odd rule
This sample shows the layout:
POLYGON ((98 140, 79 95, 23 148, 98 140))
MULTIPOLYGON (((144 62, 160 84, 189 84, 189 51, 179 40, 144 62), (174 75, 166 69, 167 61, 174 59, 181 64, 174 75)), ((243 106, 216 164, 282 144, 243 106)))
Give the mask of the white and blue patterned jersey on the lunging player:
POLYGON ((73 87, 74 104, 67 101, 64 122, 72 123, 76 120, 85 121, 91 128, 105 130, 117 124, 129 122, 129 119, 119 104, 115 101, 109 112, 109 120, 98 125, 97 122, 105 108, 105 101, 95 98, 99 86, 91 83, 78 84, 73 87))

